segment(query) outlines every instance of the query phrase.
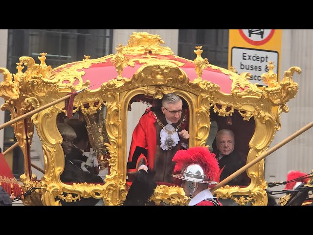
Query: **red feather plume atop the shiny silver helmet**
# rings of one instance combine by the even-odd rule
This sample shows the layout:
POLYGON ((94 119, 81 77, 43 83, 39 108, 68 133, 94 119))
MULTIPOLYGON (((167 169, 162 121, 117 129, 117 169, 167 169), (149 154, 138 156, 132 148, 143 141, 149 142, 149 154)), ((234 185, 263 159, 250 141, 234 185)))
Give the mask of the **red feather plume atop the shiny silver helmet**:
POLYGON ((219 181, 220 167, 214 153, 206 147, 192 147, 187 150, 179 150, 173 157, 173 162, 176 162, 174 171, 181 171, 186 164, 201 165, 207 179, 211 181, 219 181))

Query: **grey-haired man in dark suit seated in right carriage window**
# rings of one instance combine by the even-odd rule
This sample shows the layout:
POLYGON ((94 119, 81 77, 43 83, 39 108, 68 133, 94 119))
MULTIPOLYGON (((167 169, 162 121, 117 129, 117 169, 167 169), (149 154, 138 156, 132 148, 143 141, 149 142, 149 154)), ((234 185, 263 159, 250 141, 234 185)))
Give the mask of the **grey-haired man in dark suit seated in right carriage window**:
MULTIPOLYGON (((217 150, 214 151, 216 153, 216 158, 220 165, 220 169, 224 168, 220 176, 221 182, 229 175, 243 167, 246 164, 246 161, 244 161, 237 151, 234 151, 235 136, 231 130, 223 129, 217 133, 216 146, 217 150)), ((249 183, 250 181, 246 172, 243 172, 227 184, 246 186, 249 185, 249 183)))

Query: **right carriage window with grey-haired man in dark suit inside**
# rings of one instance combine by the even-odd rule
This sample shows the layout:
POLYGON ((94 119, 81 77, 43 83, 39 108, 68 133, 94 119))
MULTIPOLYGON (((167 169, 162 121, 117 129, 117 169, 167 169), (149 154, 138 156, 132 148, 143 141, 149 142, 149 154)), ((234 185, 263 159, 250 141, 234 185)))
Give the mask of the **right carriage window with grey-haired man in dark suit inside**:
MULTIPOLYGON (((212 149, 222 170, 220 181, 246 165, 249 153, 249 142, 254 134, 255 122, 253 118, 244 120, 238 110, 232 116, 218 116, 210 110, 211 127, 208 142, 213 140, 212 149), (213 120, 213 121, 212 121, 213 120), (213 123, 216 123, 214 126, 213 123), (213 124, 213 126, 212 126, 213 124), (214 133, 213 133, 214 132, 214 133)), ((247 186, 250 178, 246 172, 229 181, 227 185, 247 186)))

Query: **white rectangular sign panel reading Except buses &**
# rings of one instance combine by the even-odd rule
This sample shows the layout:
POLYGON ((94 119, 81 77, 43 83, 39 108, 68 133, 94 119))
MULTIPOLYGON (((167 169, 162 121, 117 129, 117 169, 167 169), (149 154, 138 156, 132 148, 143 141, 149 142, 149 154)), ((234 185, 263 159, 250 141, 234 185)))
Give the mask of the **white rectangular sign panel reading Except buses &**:
MULTIPOLYGON (((270 50, 258 50, 242 47, 232 47, 231 65, 235 67, 238 74, 249 72, 252 74, 250 82, 265 85, 261 78, 263 73, 268 72, 268 61, 278 65, 278 52, 270 50)), ((278 66, 274 68, 277 74, 278 66)))

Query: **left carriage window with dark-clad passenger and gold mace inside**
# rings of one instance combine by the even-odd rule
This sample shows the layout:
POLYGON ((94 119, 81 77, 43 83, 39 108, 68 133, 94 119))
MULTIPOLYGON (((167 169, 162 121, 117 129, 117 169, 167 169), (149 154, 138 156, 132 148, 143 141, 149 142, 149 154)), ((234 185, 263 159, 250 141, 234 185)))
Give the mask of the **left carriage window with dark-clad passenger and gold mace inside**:
POLYGON ((104 184, 109 174, 108 142, 105 128, 105 107, 95 114, 83 115, 76 112, 73 118, 61 113, 57 127, 63 138, 61 144, 65 166, 60 179, 64 183, 104 184))

